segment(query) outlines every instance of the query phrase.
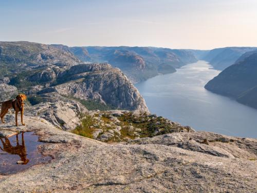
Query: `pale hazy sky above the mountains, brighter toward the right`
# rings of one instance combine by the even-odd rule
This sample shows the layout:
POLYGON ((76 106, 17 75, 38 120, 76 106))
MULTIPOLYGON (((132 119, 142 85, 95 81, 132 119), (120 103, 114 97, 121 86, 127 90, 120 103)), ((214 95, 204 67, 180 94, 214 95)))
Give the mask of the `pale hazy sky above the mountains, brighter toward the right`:
POLYGON ((257 46, 256 0, 0 0, 0 41, 257 46))

